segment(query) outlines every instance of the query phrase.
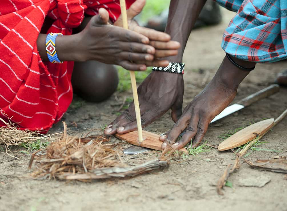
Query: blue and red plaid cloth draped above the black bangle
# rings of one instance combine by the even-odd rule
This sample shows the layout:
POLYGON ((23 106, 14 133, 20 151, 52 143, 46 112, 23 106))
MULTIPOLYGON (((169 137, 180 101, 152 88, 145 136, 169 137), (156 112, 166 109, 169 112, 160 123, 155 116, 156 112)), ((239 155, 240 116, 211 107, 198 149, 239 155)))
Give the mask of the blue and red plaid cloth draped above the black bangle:
POLYGON ((287 0, 214 0, 237 12, 224 31, 222 49, 241 60, 287 58, 287 0))

